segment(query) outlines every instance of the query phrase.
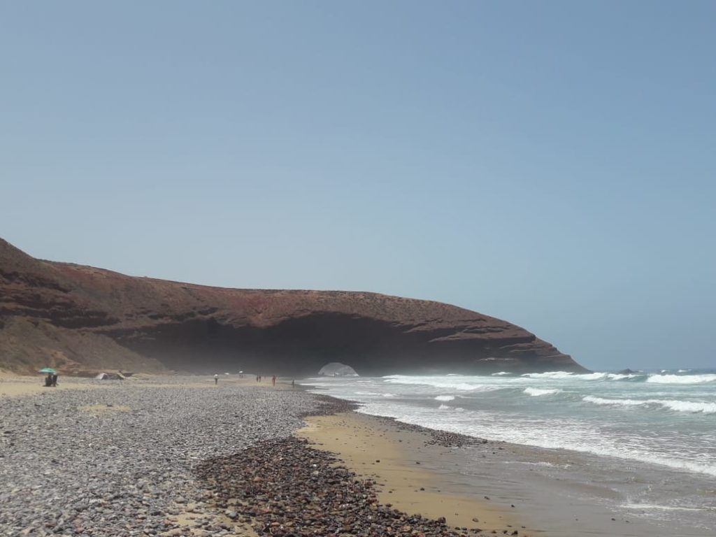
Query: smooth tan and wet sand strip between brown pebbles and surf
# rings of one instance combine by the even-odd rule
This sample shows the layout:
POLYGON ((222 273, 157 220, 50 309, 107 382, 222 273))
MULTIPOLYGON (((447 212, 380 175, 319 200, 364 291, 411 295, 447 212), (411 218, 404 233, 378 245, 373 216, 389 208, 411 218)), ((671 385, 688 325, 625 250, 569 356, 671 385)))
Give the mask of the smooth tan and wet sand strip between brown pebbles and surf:
MULTIPOLYGON (((609 488, 570 475, 573 471, 571 469, 576 469, 574 471, 579 473, 581 465, 585 463, 592 468, 599 468, 601 464, 599 456, 570 450, 536 448, 500 440, 480 440, 407 424, 392 417, 370 415, 360 410, 352 412, 352 416, 316 418, 309 421, 309 423, 323 422, 322 425, 329 425, 334 429, 344 427, 345 430, 339 435, 330 435, 330 429, 321 432, 320 427, 311 430, 310 425, 298 434, 305 435, 314 442, 320 442, 321 448, 336 451, 342 459, 349 461, 349 467, 358 473, 367 471, 381 475, 379 467, 382 465, 382 460, 381 464, 372 465, 365 457, 355 456, 354 448, 347 448, 345 445, 345 437, 352 435, 352 429, 360 429, 362 425, 368 423, 368 428, 372 429, 372 432, 364 432, 364 434, 371 437, 376 445, 382 448, 386 437, 391 439, 390 442, 395 442, 397 439, 399 448, 405 453, 404 461, 405 458, 421 461, 420 468, 429 470, 434 490, 440 488, 463 499, 469 498, 473 502, 475 511, 482 509, 483 518, 477 526, 485 526, 485 530, 490 528, 483 520, 490 521, 495 527, 503 526, 502 531, 498 528, 497 533, 503 533, 504 529, 508 529, 508 534, 511 534, 513 528, 517 528, 520 535, 549 537, 586 535, 701 537, 704 535, 703 528, 654 520, 650 518, 648 511, 635 511, 633 508, 615 509, 609 500, 616 498, 619 483, 614 483, 616 488, 609 488), (359 424, 351 423, 353 421, 359 424), (417 442, 413 440, 412 446, 405 440, 400 442, 402 431, 414 435, 418 439, 417 442), (431 439, 442 435, 458 439, 457 445, 450 445, 450 449, 442 446, 442 450, 437 451, 435 448, 430 449, 430 444, 441 446, 440 441, 435 442, 431 439), (377 442, 374 438, 376 436, 377 442), (559 469, 559 471, 543 473, 542 468, 559 469), (489 497, 489 501, 481 501, 486 500, 486 496, 489 497), (493 516, 488 518, 489 514, 486 516, 485 513, 493 516)), ((360 450, 361 448, 358 448, 358 451, 360 450)), ((624 468, 624 480, 631 479, 631 470, 632 468, 629 467, 624 468)), ((417 476, 415 477, 417 480, 417 476)), ((429 491, 427 486, 425 489, 429 491)), ((425 494, 425 491, 422 494, 425 494)), ((419 502, 408 498, 407 505, 411 504, 420 505, 419 502)), ((439 505, 439 503, 433 504, 432 507, 439 505)), ((458 517, 460 512, 455 510, 453 521, 464 523, 465 518, 458 517)), ((490 529, 486 533, 491 531, 490 529)))

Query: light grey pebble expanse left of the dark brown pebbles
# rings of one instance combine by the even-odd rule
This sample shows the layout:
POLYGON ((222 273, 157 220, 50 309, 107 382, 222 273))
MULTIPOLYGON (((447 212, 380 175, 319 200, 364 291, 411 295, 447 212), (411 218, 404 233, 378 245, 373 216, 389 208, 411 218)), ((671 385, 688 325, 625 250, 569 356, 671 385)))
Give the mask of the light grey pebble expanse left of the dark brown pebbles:
POLYGON ((180 534, 168 517, 208 499, 201 461, 287 437, 326 405, 300 390, 186 378, 86 382, 0 399, 1 535, 180 534))

